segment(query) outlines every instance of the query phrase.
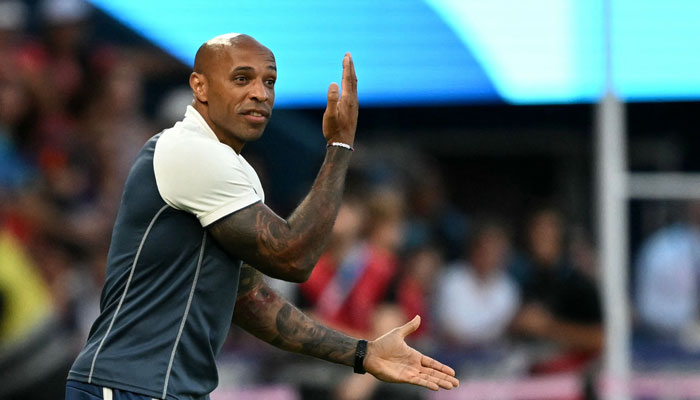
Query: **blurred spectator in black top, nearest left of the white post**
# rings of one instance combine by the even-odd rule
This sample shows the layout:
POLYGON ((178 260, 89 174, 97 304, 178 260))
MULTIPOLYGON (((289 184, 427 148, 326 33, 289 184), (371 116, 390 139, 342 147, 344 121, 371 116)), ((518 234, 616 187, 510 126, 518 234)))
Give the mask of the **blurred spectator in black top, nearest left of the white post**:
POLYGON ((527 227, 528 259, 513 270, 523 299, 513 328, 535 340, 534 372, 582 368, 603 346, 598 289, 568 260, 564 229, 558 210, 536 211, 527 227))

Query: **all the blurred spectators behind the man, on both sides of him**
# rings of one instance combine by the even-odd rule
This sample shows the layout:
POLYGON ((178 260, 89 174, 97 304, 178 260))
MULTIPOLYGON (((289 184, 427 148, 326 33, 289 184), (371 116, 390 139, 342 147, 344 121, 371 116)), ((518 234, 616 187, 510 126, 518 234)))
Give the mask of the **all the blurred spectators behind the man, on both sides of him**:
MULTIPOLYGON (((168 74, 185 82, 187 68, 152 48, 99 41, 94 12, 79 0, 0 0, 0 398, 63 390, 98 313, 131 162, 191 99, 176 89, 147 113, 145 82, 168 74)), ((410 146, 397 153, 359 143, 353 162, 326 252, 307 282, 271 281, 280 292, 368 338, 418 314, 411 344, 465 379, 595 371, 602 306, 583 225, 548 204, 525 223, 497 205, 467 212, 450 198, 449 171, 410 146)), ((635 257, 635 320, 640 340, 700 348, 700 207, 689 205, 679 221, 635 257)), ((222 362, 231 359, 245 368, 224 367, 222 384, 236 374, 243 384, 324 382, 304 379, 298 357, 235 329, 222 362)), ((336 378, 323 388, 329 397, 387 398, 366 376, 343 369, 336 378)))

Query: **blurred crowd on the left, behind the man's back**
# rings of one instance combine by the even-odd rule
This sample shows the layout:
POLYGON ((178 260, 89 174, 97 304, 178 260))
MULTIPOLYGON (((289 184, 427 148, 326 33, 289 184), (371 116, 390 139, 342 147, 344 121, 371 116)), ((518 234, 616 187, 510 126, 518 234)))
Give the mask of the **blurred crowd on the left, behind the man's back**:
POLYGON ((186 71, 95 39, 93 13, 0 1, 0 398, 37 378, 62 385, 98 312, 126 174, 177 103, 163 96, 147 116, 144 82, 186 71))

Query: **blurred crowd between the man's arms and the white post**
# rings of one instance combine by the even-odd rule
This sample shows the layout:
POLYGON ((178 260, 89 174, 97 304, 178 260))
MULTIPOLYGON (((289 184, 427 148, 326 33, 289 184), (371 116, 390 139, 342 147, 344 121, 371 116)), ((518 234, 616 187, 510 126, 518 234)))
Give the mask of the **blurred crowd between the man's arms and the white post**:
MULTIPOLYGON (((603 325, 595 255, 561 210, 538 207, 524 226, 496 212, 471 215, 451 202, 441 174, 420 154, 399 157, 413 162, 397 174, 401 166, 372 162, 362 151, 311 277, 274 285, 316 318, 361 337, 420 315, 411 344, 464 379, 568 372, 586 379, 596 371, 603 325)), ((231 345, 234 352, 254 346, 245 335, 231 345)), ((268 354, 273 364, 287 358, 268 354)), ((341 371, 334 381, 332 395, 320 398, 392 398, 381 392, 392 388, 371 377, 341 371)))

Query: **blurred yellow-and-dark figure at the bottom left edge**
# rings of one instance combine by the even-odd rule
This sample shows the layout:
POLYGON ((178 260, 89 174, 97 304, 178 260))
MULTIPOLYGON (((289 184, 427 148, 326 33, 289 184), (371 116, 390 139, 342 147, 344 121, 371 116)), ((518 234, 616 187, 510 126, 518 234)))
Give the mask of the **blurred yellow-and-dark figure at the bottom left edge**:
POLYGON ((73 357, 68 332, 22 241, 0 221, 0 398, 56 398, 73 357))

